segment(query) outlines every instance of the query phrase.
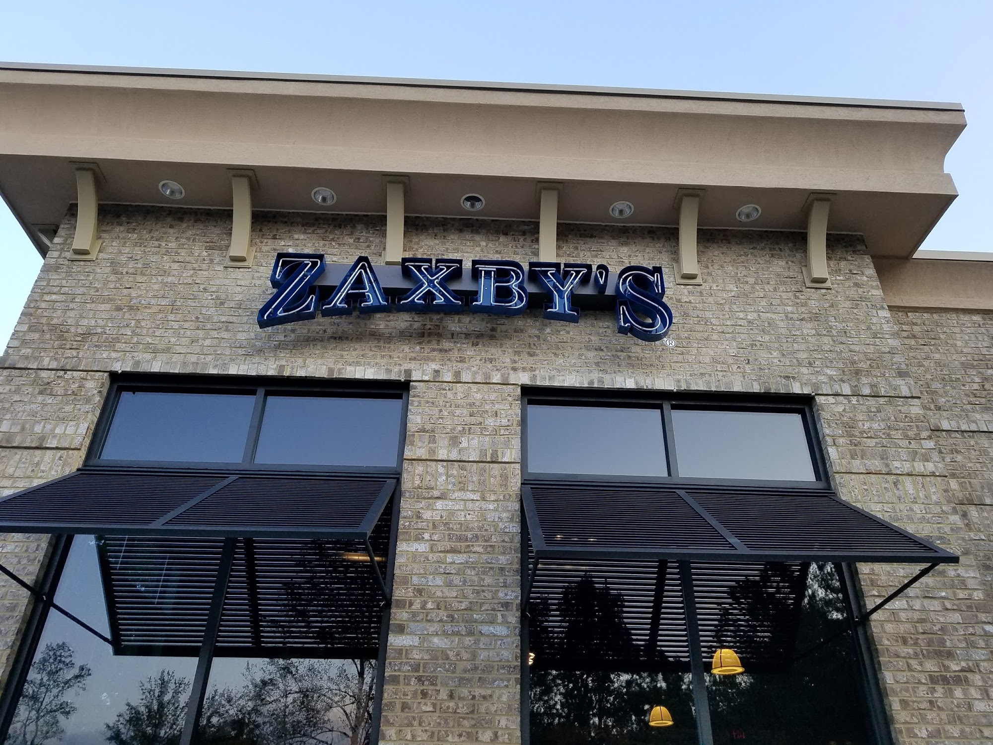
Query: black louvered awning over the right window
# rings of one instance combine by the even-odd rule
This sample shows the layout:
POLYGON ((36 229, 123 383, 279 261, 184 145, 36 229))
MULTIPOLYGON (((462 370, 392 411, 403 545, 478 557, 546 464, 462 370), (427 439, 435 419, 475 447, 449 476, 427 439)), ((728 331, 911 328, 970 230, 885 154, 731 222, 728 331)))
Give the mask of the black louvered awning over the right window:
POLYGON ((825 489, 554 482, 522 495, 539 560, 958 561, 825 489))

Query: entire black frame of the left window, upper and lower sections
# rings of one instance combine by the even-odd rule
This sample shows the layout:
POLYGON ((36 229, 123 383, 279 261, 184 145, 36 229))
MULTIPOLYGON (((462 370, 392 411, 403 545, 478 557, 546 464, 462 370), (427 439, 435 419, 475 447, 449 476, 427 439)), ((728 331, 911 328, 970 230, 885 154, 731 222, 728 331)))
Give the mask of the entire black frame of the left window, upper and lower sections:
MULTIPOLYGON (((380 605, 380 623, 378 634, 378 650, 376 656, 376 670, 374 681, 374 693, 372 709, 369 712, 371 719, 371 731, 369 735, 370 745, 376 745, 379 741, 379 729, 382 717, 382 691, 385 682, 386 670, 386 648, 389 637, 389 621, 391 609, 391 592, 396 564, 396 542, 399 530, 400 518, 400 477, 403 466, 403 452, 406 441, 407 428, 407 405, 409 400, 409 386, 401 382, 379 382, 379 381, 339 381, 327 380, 320 383, 313 380, 294 381, 280 379, 274 381, 271 377, 245 377, 234 375, 170 375, 170 374, 140 374, 128 373, 114 375, 103 399, 100 414, 93 431, 93 437, 87 448, 86 456, 83 459, 83 467, 91 470, 119 470, 121 468, 134 467, 135 469, 155 469, 160 471, 223 471, 225 473, 282 473, 304 476, 332 476, 336 474, 353 475, 361 474, 387 474, 395 476, 396 487, 393 491, 383 515, 390 516, 389 537, 386 546, 387 555, 385 564, 380 572, 374 564, 370 564, 379 575, 379 581, 387 595, 380 605), (109 432, 110 424, 113 421, 114 413, 117 409, 120 393, 129 390, 142 390, 150 392, 185 392, 185 393, 229 393, 235 391, 255 392, 255 403, 252 417, 249 422, 249 429, 246 433, 246 446, 240 463, 213 463, 213 462, 182 462, 182 461, 137 461, 137 460, 114 460, 102 459, 98 453, 102 450, 103 444, 109 432), (289 393, 291 395, 325 395, 325 396, 351 396, 351 397, 371 397, 371 398, 391 398, 401 401, 400 422, 397 442, 397 456, 394 466, 323 466, 313 464, 255 464, 250 462, 254 456, 255 446, 258 442, 261 431, 262 412, 264 410, 265 396, 270 392, 289 393)), ((82 532, 78 534, 84 534, 82 532)), ((41 643, 42 635, 45 631, 46 622, 50 613, 53 612, 53 601, 59 589, 62 575, 69 558, 71 544, 75 534, 56 534, 50 549, 48 560, 42 569, 36 585, 24 583, 26 588, 30 588, 34 596, 34 602, 30 605, 27 618, 22 626, 21 636, 14 650, 12 651, 12 661, 8 669, 7 679, 0 690, 0 735, 7 736, 10 724, 13 720, 15 710, 20 701, 21 694, 34 663, 38 647, 41 643)), ((196 720, 199 722, 203 706, 204 696, 210 683, 210 666, 214 654, 214 643, 217 632, 220 628, 221 615, 226 598, 228 580, 232 571, 232 559, 237 547, 237 541, 243 538, 227 535, 223 538, 223 551, 218 566, 218 573, 215 580, 214 594, 220 592, 220 602, 212 602, 212 608, 207 620, 204 642, 200 657, 198 659, 198 669, 194 676, 191 687, 190 703, 198 708, 196 720), (204 671, 205 663, 206 671, 204 671), (199 705, 196 698, 199 696, 199 705)), ((370 549, 371 550, 371 549, 370 549)), ((90 630, 91 631, 91 630, 90 630)), ((105 640, 104 640, 105 641, 105 640)), ((189 716, 189 714, 188 714, 189 716)), ((190 722, 184 730, 180 745, 193 745, 196 742, 196 731, 190 732, 190 722)))

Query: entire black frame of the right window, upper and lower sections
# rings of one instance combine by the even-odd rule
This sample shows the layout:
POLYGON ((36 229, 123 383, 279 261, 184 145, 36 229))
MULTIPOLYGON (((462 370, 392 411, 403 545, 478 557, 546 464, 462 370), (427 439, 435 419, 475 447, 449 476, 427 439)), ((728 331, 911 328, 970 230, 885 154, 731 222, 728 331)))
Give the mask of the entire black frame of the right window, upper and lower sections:
MULTIPOLYGON (((810 395, 803 394, 741 394, 714 392, 701 394, 699 392, 673 392, 673 391, 653 391, 653 390, 576 390, 576 389, 549 389, 540 387, 523 387, 521 389, 521 425, 520 425, 520 458, 521 458, 521 485, 541 484, 549 482, 572 483, 577 482, 588 484, 658 484, 668 487, 680 486, 712 486, 712 487, 745 487, 755 488, 757 498, 761 497, 763 490, 768 488, 802 488, 820 489, 832 496, 834 488, 831 484, 830 471, 824 449, 821 446, 819 436, 819 426, 815 412, 815 401, 810 395), (562 474, 562 473, 541 473, 532 472, 528 468, 528 431, 527 431, 527 407, 531 403, 550 405, 577 405, 577 406, 625 406, 638 408, 658 408, 662 415, 662 437, 665 446, 666 465, 669 476, 617 476, 617 475, 590 475, 590 474, 562 474), (675 451, 675 435, 672 426, 672 408, 691 408, 709 410, 731 410, 731 411, 761 411, 761 412, 782 412, 798 413, 803 422, 804 434, 806 436, 807 450, 810 454, 811 466, 813 468, 815 481, 786 481, 786 480, 758 480, 758 479, 708 479, 699 477, 678 476, 678 463, 675 451)), ((521 506, 521 544, 520 561, 527 574, 527 569, 532 566, 532 571, 537 568, 537 560, 530 553, 530 537, 527 522, 524 517, 525 506, 521 506), (533 562, 533 564, 532 564, 533 562)), ((706 685, 704 683, 704 666, 707 663, 700 650, 699 628, 696 620, 696 601, 693 597, 692 562, 679 560, 680 575, 682 577, 682 598, 684 612, 686 613, 687 635, 690 644, 690 664, 693 677, 694 705, 705 707, 705 711, 697 713, 697 736, 701 745, 712 745, 710 722, 710 704, 707 702, 706 685), (685 568, 683 568, 685 567, 685 568), (685 574, 683 574, 685 572, 685 574), (702 689, 702 690, 701 690, 702 689), (705 734, 704 734, 705 733, 705 734)), ((855 664, 859 671, 862 687, 863 701, 866 707, 868 726, 870 735, 877 745, 893 745, 893 732, 888 718, 886 704, 883 699, 883 692, 880 679, 880 667, 876 659, 875 652, 869 639, 868 629, 864 624, 857 623, 857 619, 864 619, 866 606, 861 597, 857 567, 849 562, 830 562, 834 565, 841 584, 841 594, 843 597, 846 615, 852 636, 852 645, 855 654, 855 664)), ((525 580, 525 584, 529 580, 525 580)), ((529 639, 529 605, 530 598, 527 592, 522 597, 521 604, 521 655, 520 655, 520 722, 521 722, 521 743, 530 745, 530 683, 528 665, 528 639, 529 639)))

